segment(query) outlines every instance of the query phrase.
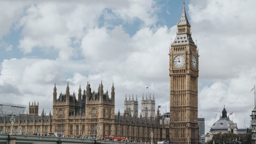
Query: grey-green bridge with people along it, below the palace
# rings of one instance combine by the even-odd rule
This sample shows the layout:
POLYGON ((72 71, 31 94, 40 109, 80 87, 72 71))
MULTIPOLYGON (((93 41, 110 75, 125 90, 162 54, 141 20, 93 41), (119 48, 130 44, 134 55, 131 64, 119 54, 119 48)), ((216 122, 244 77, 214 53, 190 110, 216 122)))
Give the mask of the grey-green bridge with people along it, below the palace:
POLYGON ((49 137, 36 135, 0 134, 0 144, 134 144, 125 141, 82 138, 49 137))

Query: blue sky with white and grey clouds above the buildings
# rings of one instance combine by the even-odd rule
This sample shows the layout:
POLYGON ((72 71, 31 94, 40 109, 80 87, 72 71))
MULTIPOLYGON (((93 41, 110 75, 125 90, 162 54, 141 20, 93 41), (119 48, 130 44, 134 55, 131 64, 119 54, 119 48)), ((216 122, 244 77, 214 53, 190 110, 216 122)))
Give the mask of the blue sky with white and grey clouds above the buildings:
MULTIPOLYGON (((254 0, 186 0, 199 50, 198 117, 205 133, 223 106, 238 128, 249 127, 256 83, 254 0), (244 121, 245 120, 245 121, 244 121)), ((169 47, 182 0, 0 1, 0 102, 39 101, 52 93, 115 86, 115 112, 125 95, 154 94, 169 107, 169 47), (149 89, 146 89, 149 87, 149 89)), ((167 108, 166 108, 167 107, 167 108)), ((28 109, 26 109, 27 111, 28 109)), ((25 111, 25 113, 26 113, 25 111)))

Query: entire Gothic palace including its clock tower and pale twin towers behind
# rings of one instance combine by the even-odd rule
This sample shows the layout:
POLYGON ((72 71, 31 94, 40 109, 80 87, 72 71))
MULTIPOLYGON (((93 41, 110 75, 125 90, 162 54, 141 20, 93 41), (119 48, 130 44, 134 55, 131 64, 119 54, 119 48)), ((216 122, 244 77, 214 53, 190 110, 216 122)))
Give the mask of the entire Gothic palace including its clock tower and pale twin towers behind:
MULTIPOLYGON (((115 115, 115 88, 112 85, 110 94, 103 91, 103 84, 98 92, 92 91, 87 83, 82 92, 78 90, 70 94, 67 85, 66 93, 57 94, 53 88, 53 110, 49 115, 38 115, 38 103, 29 103, 29 114, 16 115, 14 133, 18 126, 23 132, 47 133, 60 132, 64 135, 82 135, 96 137, 95 127, 99 124, 99 137, 115 135, 128 137, 131 140, 150 141, 150 133, 154 132, 154 141, 171 140, 173 144, 198 143, 197 122, 197 78, 198 50, 193 42, 190 24, 185 12, 185 3, 180 21, 177 24, 177 36, 170 46, 170 120, 165 123, 164 116, 155 112, 154 95, 142 96, 142 110, 138 115, 137 96, 134 100, 125 97, 124 114, 115 115), (149 98, 148 98, 149 97, 149 98)), ((10 133, 11 116, 0 116, 0 131, 10 133)))

